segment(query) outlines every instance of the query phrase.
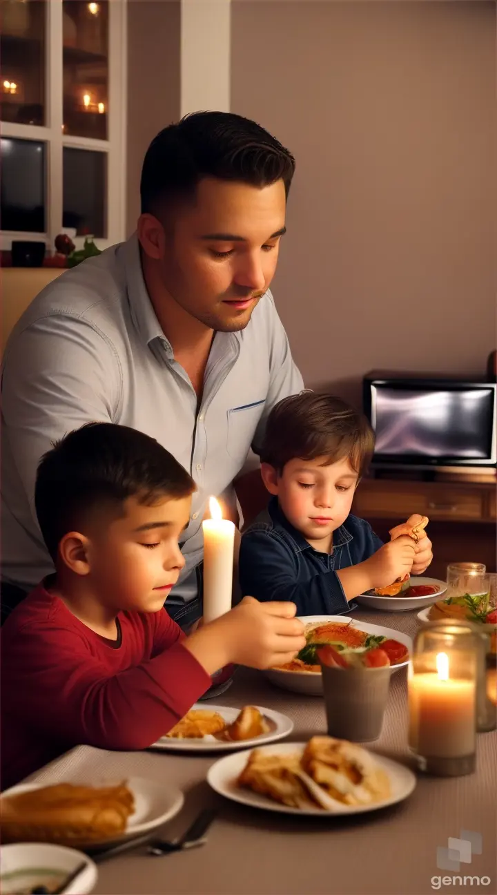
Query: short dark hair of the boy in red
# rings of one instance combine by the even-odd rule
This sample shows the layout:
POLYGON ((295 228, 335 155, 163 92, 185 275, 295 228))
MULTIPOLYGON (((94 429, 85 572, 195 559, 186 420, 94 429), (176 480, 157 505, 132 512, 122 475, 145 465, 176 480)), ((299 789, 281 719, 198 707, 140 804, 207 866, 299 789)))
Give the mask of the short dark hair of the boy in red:
POLYGON ((89 422, 57 441, 40 460, 35 486, 38 523, 55 560, 64 534, 80 531, 95 509, 122 515, 127 498, 153 505, 196 490, 189 473, 156 439, 128 426, 89 422))

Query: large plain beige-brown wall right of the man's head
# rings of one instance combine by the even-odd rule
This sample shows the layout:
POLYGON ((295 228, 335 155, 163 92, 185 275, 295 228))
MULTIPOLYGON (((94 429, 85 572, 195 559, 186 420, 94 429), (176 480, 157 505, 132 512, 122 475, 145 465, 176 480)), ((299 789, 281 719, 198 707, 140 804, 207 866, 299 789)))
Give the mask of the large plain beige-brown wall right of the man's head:
POLYGON ((232 111, 297 158, 274 294, 307 384, 483 372, 495 5, 233 0, 232 111))

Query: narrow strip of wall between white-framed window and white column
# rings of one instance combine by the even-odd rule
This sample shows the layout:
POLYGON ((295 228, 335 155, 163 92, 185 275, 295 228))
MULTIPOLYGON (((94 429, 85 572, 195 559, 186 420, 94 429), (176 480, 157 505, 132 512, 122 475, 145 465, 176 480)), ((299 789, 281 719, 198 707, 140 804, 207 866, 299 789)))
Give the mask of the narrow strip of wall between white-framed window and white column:
POLYGON ((139 216, 139 176, 149 142, 180 117, 180 0, 128 0, 126 234, 139 216))

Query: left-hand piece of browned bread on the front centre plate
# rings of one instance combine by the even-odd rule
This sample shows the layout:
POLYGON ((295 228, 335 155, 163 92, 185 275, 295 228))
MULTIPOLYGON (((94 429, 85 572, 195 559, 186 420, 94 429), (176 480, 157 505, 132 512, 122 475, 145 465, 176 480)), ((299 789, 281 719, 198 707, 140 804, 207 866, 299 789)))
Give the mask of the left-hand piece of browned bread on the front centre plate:
POLYGON ((262 796, 269 796, 274 802, 290 805, 291 808, 316 808, 315 799, 301 779, 301 770, 298 752, 274 755, 254 749, 240 773, 238 785, 253 789, 262 796))

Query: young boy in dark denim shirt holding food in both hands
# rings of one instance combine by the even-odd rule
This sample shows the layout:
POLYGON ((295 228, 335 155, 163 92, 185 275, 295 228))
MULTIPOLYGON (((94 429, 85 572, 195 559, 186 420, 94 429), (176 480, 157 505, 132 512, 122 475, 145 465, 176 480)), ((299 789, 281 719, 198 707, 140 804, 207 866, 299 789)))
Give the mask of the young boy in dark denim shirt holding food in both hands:
POLYGON ((433 558, 426 517, 411 516, 383 544, 350 514, 374 445, 366 418, 332 395, 304 391, 274 407, 260 451, 273 497, 241 539, 242 593, 329 615, 374 588, 398 593, 425 571, 433 558))

